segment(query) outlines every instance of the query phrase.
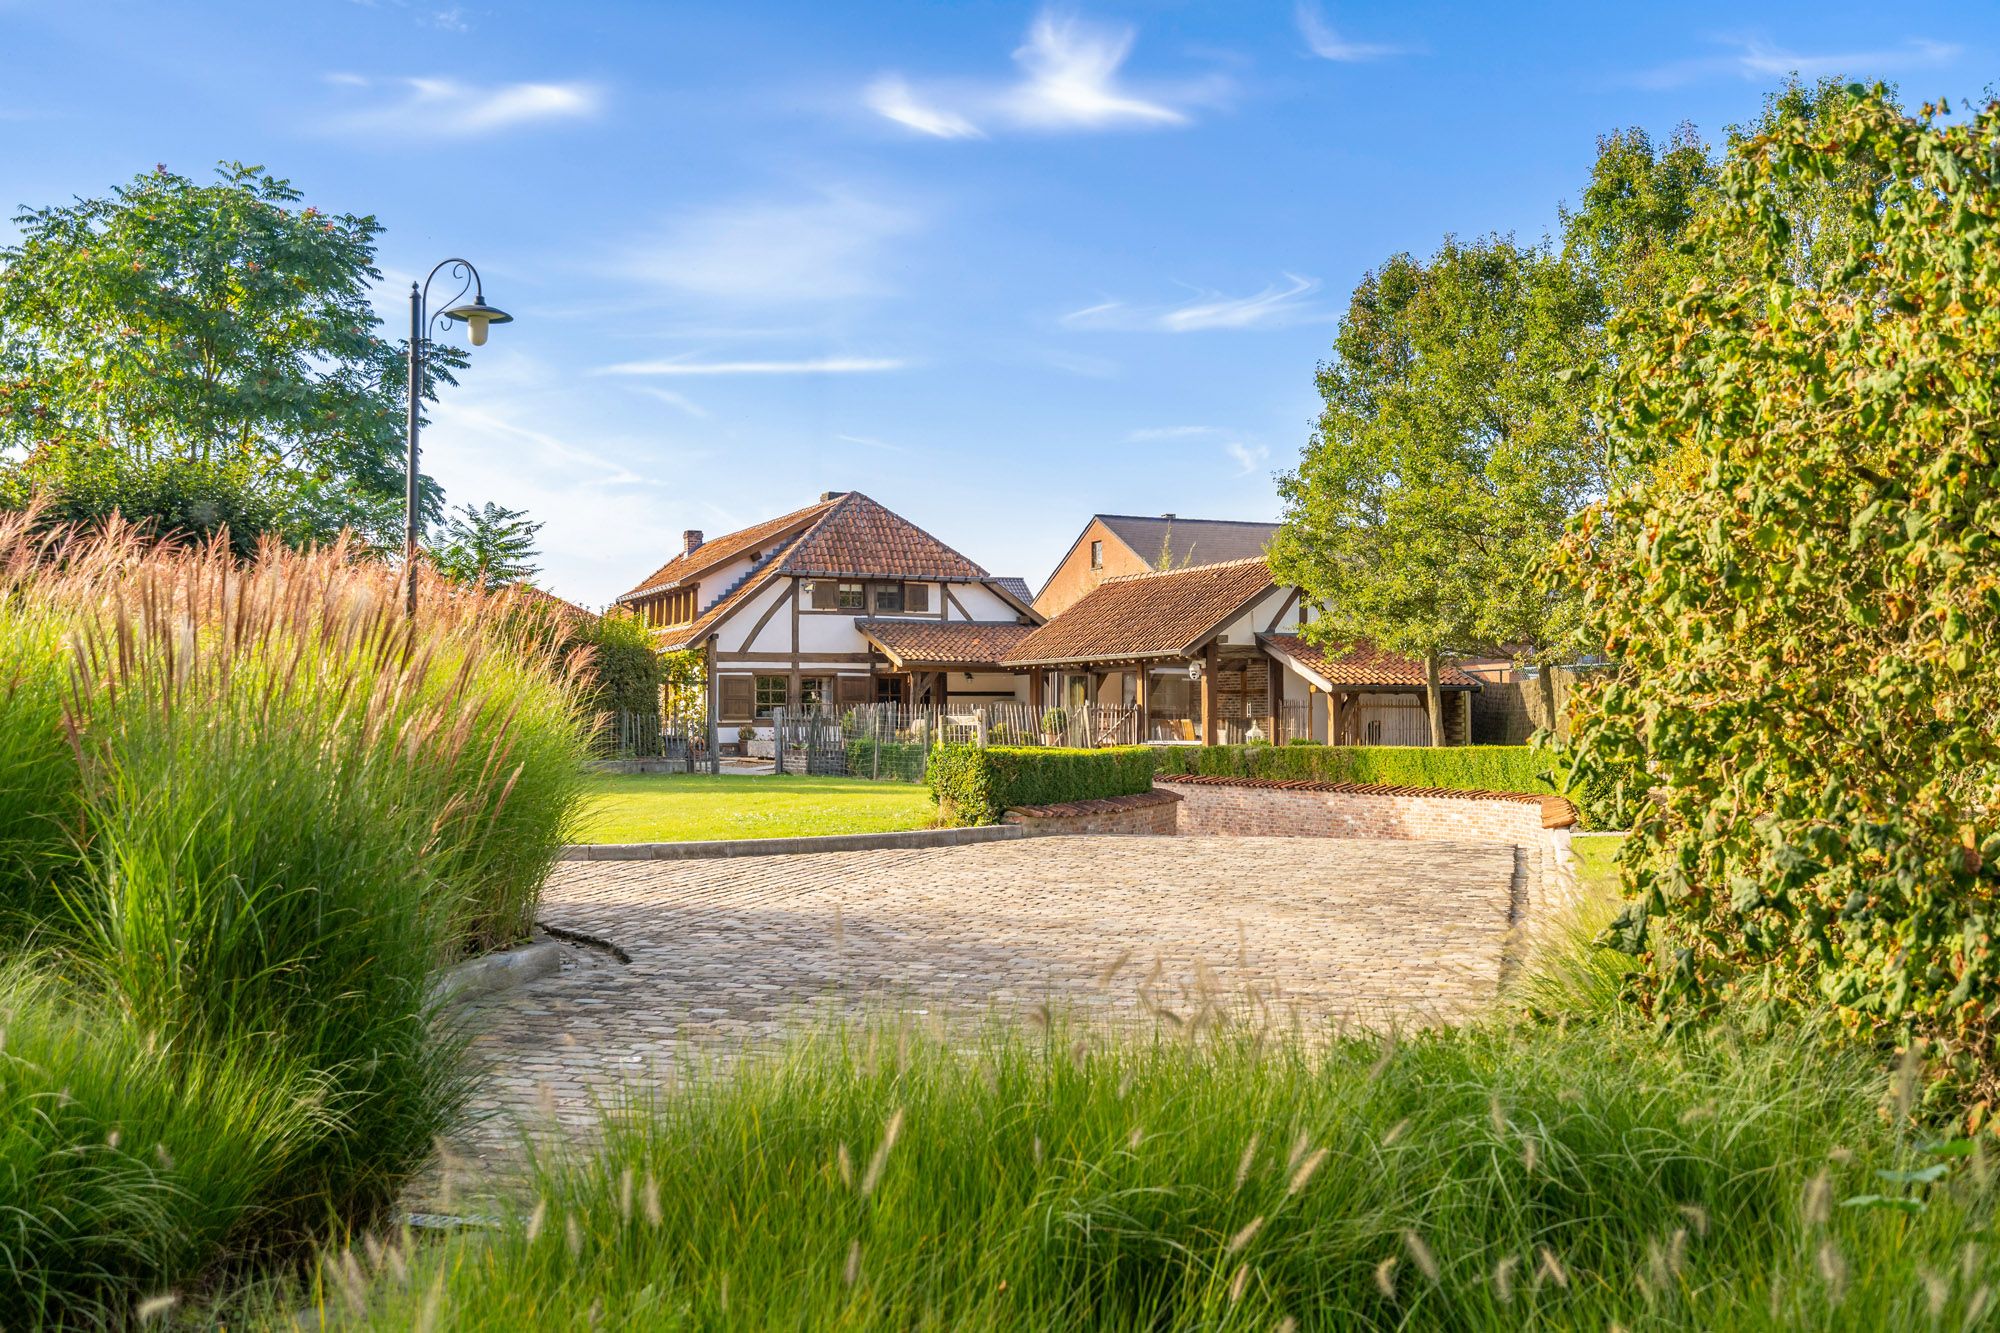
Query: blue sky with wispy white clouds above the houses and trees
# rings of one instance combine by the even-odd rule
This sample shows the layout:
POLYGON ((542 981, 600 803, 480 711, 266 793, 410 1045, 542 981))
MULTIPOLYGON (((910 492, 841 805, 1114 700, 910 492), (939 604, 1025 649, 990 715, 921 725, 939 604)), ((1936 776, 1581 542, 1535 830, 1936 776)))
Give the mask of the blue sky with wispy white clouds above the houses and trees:
POLYGON ((426 434, 602 604, 866 490, 1000 574, 1090 512, 1276 518, 1354 280, 1554 226, 1600 132, 1786 70, 1980 94, 1984 4, 0 0, 0 202, 166 162, 470 256, 518 320, 426 434))

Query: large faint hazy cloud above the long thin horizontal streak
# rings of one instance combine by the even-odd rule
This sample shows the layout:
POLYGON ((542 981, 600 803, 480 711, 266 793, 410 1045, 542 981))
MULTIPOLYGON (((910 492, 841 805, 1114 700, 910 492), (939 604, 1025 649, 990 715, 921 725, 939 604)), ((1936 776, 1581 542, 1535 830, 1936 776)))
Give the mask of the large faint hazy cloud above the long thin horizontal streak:
POLYGON ((696 208, 626 248, 616 274, 728 302, 852 300, 888 290, 912 208, 848 186, 696 208))

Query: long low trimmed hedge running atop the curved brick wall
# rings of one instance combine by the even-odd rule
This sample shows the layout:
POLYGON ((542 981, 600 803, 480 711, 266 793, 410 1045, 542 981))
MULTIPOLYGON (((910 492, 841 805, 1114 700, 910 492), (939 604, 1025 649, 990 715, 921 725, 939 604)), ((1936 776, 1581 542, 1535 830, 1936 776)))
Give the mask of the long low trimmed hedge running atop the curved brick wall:
POLYGON ((1548 751, 1524 745, 1162 745, 1160 775, 1206 773, 1446 791, 1550 793, 1548 751))

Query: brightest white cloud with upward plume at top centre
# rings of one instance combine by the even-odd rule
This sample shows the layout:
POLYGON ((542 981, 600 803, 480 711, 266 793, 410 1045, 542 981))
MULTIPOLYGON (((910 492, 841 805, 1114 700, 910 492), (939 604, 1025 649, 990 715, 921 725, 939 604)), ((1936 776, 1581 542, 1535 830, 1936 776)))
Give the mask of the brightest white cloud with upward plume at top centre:
POLYGON ((1218 100, 1216 76, 1180 84, 1124 78, 1136 32, 1044 10, 1014 50, 1008 84, 938 82, 918 92, 900 74, 868 84, 862 100, 880 116, 932 138, 982 138, 988 128, 1038 134, 1192 124, 1188 108, 1218 100))

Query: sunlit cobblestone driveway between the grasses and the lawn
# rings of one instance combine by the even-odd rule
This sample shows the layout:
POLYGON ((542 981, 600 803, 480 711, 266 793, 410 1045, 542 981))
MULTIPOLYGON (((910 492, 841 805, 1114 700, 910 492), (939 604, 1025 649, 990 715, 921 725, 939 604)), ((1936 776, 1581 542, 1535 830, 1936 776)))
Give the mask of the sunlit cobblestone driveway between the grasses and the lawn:
POLYGON ((490 1165, 522 1123, 586 1133, 598 1099, 828 1013, 1158 1023, 1208 997, 1286 1027, 1450 1019, 1496 993, 1512 873, 1496 843, 1226 837, 564 863, 542 921, 632 961, 570 949, 468 1007, 488 1071, 458 1149, 490 1165))

